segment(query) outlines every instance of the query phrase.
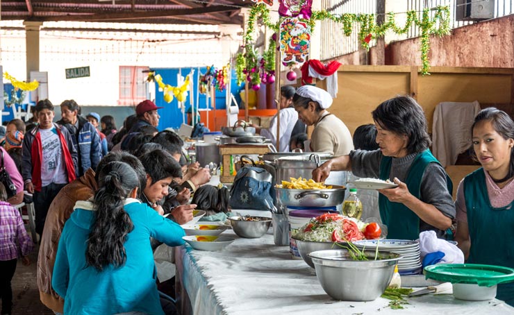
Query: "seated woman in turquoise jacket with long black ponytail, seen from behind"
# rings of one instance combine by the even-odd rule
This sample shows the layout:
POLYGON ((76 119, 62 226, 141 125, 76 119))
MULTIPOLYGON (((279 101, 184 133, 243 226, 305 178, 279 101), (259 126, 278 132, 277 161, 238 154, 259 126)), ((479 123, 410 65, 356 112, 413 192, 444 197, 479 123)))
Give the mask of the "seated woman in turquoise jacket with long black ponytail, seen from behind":
POLYGON ((110 162, 100 170, 93 202, 76 203, 52 278, 65 314, 164 314, 150 237, 179 246, 185 233, 135 199, 138 184, 128 164, 110 162))

